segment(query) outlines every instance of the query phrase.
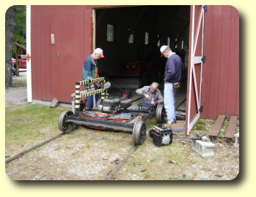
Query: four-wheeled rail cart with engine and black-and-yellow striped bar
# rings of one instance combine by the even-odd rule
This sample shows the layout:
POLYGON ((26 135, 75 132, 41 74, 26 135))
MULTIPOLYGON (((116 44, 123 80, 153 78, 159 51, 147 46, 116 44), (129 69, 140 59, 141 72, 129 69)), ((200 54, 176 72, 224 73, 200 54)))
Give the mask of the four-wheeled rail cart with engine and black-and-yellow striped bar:
POLYGON ((110 83, 104 77, 76 82, 75 93, 72 93, 72 110, 62 112, 59 116, 59 130, 68 134, 76 125, 104 131, 124 131, 132 134, 135 146, 146 140, 146 120, 156 115, 157 123, 165 120, 165 109, 162 104, 138 104, 138 110, 128 109, 132 100, 127 98, 115 99, 108 95, 110 83), (97 83, 99 89, 94 88, 80 91, 81 85, 97 83), (87 96, 101 93, 99 101, 94 100, 94 107, 87 109, 87 96))

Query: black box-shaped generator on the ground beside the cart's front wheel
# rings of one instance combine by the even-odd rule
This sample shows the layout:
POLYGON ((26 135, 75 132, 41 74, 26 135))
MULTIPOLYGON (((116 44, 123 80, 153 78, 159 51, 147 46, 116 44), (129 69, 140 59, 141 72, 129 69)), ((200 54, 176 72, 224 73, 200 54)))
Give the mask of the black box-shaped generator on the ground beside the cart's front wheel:
POLYGON ((151 128, 149 136, 153 139, 153 143, 158 147, 173 142, 173 131, 161 123, 151 128))

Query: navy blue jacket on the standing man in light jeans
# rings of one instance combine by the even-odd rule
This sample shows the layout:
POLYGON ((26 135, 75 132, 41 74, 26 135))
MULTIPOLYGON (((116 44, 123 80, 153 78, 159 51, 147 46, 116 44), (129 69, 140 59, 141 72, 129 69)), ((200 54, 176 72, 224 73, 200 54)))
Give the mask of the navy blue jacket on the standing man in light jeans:
POLYGON ((170 83, 180 82, 181 70, 183 69, 184 64, 181 58, 176 53, 173 53, 169 56, 165 64, 165 81, 170 83))

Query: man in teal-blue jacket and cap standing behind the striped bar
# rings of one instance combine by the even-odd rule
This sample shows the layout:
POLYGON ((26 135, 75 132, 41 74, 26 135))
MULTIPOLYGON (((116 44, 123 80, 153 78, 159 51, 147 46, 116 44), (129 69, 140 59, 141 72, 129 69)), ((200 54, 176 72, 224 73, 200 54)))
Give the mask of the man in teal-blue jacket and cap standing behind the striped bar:
MULTIPOLYGON (((104 58, 103 50, 100 48, 95 49, 94 53, 92 53, 88 56, 88 58, 86 58, 86 61, 83 63, 83 80, 91 80, 99 77, 97 61, 100 58, 104 58)), ((89 88, 89 86, 90 88, 95 88, 95 90, 99 89, 97 87, 97 84, 91 83, 90 85, 85 85, 86 88, 89 88)), ((95 95, 95 99, 96 102, 100 99, 100 93, 97 93, 95 95)), ((86 107, 89 108, 93 106, 93 96, 88 96, 86 101, 86 107)))

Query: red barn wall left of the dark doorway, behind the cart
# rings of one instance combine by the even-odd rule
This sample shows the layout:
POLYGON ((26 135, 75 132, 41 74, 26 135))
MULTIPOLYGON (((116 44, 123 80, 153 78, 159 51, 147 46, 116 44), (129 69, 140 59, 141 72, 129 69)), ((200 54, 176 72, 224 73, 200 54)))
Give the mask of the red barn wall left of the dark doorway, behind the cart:
POLYGON ((92 34, 91 9, 86 6, 31 6, 33 100, 52 101, 56 97, 70 102, 75 82, 82 80, 83 62, 93 48, 92 34), (55 45, 51 45, 50 34, 55 34, 55 45))

